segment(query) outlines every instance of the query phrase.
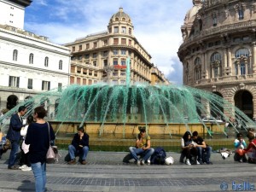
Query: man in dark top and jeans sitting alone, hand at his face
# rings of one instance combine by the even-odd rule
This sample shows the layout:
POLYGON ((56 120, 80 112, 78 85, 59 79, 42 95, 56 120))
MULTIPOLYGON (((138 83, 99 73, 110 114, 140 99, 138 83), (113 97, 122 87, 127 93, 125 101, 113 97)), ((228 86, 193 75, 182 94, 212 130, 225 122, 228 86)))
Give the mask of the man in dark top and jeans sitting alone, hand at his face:
POLYGON ((74 135, 71 145, 68 146, 68 154, 71 160, 67 164, 76 164, 76 155, 80 154, 81 164, 85 165, 87 163, 85 159, 88 152, 89 135, 84 132, 84 127, 79 127, 78 133, 74 135))

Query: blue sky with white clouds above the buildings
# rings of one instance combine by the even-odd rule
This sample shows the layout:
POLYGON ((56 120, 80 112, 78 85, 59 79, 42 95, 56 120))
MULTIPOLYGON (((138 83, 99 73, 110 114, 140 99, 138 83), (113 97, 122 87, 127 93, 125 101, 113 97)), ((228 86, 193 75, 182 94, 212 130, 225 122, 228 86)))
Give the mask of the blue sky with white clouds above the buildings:
POLYGON ((131 17, 134 35, 172 84, 183 84, 177 50, 180 27, 192 0, 33 0, 26 8, 25 30, 67 44, 91 33, 107 31, 119 7, 131 17))

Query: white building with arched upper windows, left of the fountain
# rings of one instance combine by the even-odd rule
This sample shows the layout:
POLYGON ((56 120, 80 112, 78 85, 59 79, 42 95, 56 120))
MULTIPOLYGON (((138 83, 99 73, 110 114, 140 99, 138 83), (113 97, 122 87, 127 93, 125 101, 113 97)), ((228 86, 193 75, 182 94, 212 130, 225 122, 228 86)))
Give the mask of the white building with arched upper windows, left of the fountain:
MULTIPOLYGON (((0 9, 11 9, 13 15, 19 7, 17 14, 23 15, 24 20, 24 13, 21 14, 20 10, 24 11, 31 1, 4 0, 0 3, 0 9)), ((46 90, 61 90, 62 86, 69 84, 69 49, 50 43, 46 37, 26 32, 20 28, 23 27, 20 20, 11 26, 0 20, 0 109, 14 108, 46 90)), ((42 102, 48 110, 50 104, 55 104, 50 96, 42 102)), ((54 109, 49 113, 54 113, 54 109)))

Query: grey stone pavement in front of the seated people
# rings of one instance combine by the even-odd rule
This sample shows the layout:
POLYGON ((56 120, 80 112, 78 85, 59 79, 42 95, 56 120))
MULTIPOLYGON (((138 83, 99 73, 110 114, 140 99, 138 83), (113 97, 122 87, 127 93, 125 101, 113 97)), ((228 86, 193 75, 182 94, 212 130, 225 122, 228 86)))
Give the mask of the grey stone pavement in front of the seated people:
MULTIPOLYGON (((213 165, 187 166, 178 162, 177 153, 168 152, 172 166, 137 166, 122 162, 125 152, 90 152, 85 166, 67 165, 62 158, 47 165, 47 191, 249 191, 256 190, 256 166, 234 162, 233 154, 223 160, 212 153, 213 165), (235 182, 232 184, 232 182, 235 182), (240 185, 238 185, 240 184, 240 185), (232 187, 233 186, 233 187, 232 187)), ((34 191, 32 172, 7 169, 9 154, 0 160, 0 191, 34 191)))

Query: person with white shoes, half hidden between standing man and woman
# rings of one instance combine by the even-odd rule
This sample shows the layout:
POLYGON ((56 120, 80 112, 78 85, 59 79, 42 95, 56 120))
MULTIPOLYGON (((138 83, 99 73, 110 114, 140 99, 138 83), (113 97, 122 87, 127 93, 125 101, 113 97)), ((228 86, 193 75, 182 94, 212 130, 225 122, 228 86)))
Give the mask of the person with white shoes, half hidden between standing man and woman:
POLYGON ((19 167, 19 169, 21 169, 22 171, 31 171, 31 164, 30 161, 28 160, 28 155, 29 155, 29 145, 25 144, 25 138, 26 138, 26 131, 27 131, 27 127, 28 125, 30 125, 33 122, 33 117, 32 115, 29 115, 27 117, 27 125, 25 127, 22 127, 22 129, 20 130, 20 135, 24 137, 24 141, 21 144, 21 165, 19 167))

